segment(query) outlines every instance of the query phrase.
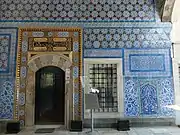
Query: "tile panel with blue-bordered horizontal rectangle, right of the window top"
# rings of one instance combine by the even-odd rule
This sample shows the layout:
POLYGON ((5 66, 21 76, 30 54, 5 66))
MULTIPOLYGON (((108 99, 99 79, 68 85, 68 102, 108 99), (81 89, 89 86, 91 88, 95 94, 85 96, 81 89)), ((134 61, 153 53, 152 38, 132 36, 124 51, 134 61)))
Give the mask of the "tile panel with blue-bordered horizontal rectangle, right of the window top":
POLYGON ((128 77, 172 76, 170 50, 125 49, 124 75, 128 77))

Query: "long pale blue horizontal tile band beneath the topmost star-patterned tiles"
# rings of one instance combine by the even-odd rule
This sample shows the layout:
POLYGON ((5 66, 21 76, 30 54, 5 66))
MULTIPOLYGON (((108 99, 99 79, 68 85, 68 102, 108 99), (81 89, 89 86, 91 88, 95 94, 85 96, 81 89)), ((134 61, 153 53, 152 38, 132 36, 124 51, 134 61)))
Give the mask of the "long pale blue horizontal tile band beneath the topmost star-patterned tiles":
POLYGON ((0 22, 1 27, 81 27, 81 28, 163 28, 171 32, 170 22, 0 22))

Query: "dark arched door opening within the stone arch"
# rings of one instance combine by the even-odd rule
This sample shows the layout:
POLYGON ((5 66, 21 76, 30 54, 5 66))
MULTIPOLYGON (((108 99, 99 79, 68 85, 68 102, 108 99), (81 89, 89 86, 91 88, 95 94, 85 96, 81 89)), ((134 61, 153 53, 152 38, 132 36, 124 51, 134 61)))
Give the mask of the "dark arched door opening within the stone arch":
POLYGON ((53 66, 41 68, 35 91, 35 124, 64 124, 65 72, 53 66))

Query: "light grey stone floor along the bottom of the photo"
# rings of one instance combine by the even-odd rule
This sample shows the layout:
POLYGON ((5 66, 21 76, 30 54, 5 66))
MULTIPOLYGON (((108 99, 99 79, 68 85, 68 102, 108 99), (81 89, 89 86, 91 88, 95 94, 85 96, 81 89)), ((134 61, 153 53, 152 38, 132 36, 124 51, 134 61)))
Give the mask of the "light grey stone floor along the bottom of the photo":
MULTIPOLYGON (((20 133, 18 133, 17 135, 85 135, 86 131, 89 130, 86 129, 81 133, 76 133, 76 132, 63 131, 62 129, 56 129, 53 133, 35 134, 33 129, 25 129, 20 133)), ((180 135, 180 128, 173 126, 136 127, 136 128, 131 128, 130 131, 117 131, 115 129, 103 128, 103 129, 96 129, 96 132, 93 135, 180 135)))

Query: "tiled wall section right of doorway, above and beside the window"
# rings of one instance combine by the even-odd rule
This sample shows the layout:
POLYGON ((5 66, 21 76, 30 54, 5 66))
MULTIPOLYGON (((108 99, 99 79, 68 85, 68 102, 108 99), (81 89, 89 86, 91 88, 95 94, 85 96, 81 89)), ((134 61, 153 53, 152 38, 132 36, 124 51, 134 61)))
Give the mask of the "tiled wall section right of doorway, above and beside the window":
POLYGON ((171 28, 132 26, 85 28, 84 57, 123 59, 125 116, 174 116, 171 28))

